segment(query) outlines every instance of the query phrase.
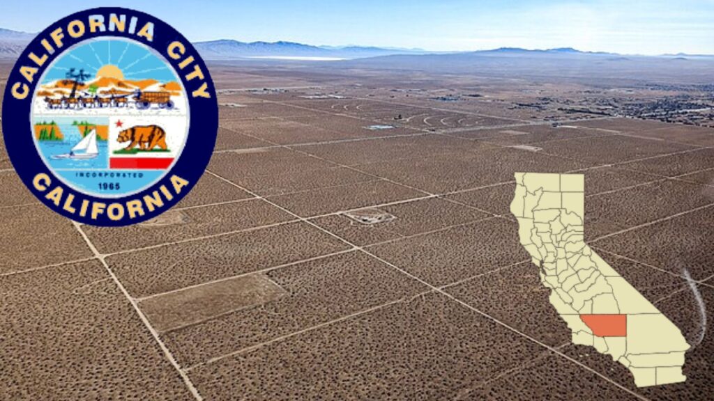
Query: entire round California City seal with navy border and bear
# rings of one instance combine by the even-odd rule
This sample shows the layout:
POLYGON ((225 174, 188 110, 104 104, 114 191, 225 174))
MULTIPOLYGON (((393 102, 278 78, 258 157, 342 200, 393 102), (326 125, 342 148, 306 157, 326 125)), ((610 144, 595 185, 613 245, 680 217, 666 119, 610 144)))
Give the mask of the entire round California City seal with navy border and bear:
POLYGON ((42 31, 9 75, 8 156, 34 195, 79 223, 139 223, 201 178, 216 91, 196 49, 163 21, 102 7, 42 31))

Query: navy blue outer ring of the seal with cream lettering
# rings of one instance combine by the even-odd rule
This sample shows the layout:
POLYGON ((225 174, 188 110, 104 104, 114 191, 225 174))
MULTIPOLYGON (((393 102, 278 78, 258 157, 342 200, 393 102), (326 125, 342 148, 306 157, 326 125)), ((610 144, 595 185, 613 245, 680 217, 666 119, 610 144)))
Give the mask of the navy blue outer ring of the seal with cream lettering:
POLYGON ((41 31, 9 74, 2 117, 10 161, 34 196, 66 218, 99 226, 140 223, 176 205, 206 170, 218 133, 216 88, 191 42, 154 16, 119 7, 79 11, 41 31), (186 89, 190 109, 188 136, 174 166, 149 188, 119 198, 101 198, 66 186, 42 161, 29 131, 33 94, 45 69, 64 50, 106 36, 138 41, 164 56, 186 89))

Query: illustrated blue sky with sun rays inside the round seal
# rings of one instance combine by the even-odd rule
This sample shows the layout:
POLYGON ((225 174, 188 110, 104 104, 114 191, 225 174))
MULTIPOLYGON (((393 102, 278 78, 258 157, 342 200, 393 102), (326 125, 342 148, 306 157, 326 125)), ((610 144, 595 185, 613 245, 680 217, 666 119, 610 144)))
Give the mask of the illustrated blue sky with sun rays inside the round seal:
POLYGON ((124 78, 140 80, 153 78, 161 82, 178 81, 159 56, 144 48, 121 40, 83 42, 68 53, 62 54, 43 78, 43 83, 64 78, 69 68, 84 69, 94 79, 96 71, 106 64, 118 66, 124 78))

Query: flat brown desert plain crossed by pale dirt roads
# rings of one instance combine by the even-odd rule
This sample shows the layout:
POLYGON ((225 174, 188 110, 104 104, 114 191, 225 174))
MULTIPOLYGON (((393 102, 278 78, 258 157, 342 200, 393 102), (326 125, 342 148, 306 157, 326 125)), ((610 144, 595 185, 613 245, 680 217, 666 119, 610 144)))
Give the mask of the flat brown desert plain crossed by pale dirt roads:
POLYGON ((709 399, 711 64, 408 57, 211 63, 208 171, 127 228, 56 215, 0 145, 0 399, 709 399), (678 325, 686 382, 571 344, 521 171, 585 175, 586 240, 678 325))

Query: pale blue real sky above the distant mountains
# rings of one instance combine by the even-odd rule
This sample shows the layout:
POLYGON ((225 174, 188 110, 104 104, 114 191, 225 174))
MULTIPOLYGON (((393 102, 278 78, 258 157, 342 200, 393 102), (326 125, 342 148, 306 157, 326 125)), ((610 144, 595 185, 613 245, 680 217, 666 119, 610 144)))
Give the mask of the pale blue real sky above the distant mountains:
POLYGON ((38 31, 91 6, 149 12, 192 41, 468 51, 574 47, 623 54, 714 54, 714 0, 361 0, 0 2, 0 27, 38 31), (31 12, 29 12, 31 9, 31 12))

